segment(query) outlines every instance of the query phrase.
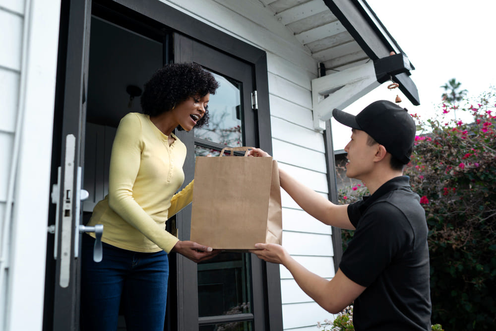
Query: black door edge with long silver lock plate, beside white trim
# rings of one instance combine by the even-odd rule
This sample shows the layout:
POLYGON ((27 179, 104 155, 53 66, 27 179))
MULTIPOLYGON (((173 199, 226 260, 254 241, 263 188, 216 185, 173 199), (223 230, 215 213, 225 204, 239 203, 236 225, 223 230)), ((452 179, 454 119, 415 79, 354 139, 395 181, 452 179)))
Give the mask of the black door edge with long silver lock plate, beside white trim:
POLYGON ((50 205, 49 209, 48 223, 54 226, 55 236, 49 234, 47 241, 43 321, 44 330, 61 331, 79 328, 79 233, 75 230, 81 222, 78 177, 84 155, 82 141, 89 55, 89 39, 86 36, 91 17, 91 0, 63 2, 51 174, 51 183, 58 183, 60 202, 57 207, 50 205), (67 157, 68 154, 71 156, 67 157), (59 216, 58 223, 55 222, 56 215, 59 216))

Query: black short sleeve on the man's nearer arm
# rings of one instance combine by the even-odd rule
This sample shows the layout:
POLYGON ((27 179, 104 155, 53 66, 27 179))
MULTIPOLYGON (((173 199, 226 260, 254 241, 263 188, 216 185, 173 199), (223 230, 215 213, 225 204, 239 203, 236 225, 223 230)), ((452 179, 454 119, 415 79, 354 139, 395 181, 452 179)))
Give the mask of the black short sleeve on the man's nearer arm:
POLYGON ((387 202, 375 203, 360 219, 339 268, 367 287, 412 243, 413 233, 405 215, 387 202))

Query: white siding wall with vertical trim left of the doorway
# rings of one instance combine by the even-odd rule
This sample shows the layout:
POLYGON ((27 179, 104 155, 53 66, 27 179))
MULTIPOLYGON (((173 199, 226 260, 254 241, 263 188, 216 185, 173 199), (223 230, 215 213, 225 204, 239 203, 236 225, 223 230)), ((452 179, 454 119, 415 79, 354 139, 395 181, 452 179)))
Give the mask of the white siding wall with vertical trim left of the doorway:
POLYGON ((41 330, 60 1, 0 0, 0 330, 41 330))

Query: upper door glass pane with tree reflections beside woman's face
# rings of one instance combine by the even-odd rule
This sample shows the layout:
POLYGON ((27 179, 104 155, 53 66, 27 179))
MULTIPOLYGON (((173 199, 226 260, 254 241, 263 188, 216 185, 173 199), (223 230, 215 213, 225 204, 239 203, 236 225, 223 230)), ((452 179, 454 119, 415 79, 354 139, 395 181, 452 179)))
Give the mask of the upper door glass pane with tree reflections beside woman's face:
MULTIPOLYGON (((210 95, 208 127, 194 130, 194 136, 225 146, 243 145, 242 83, 212 72, 219 82, 215 94, 210 95)), ((204 155, 200 155, 204 156, 204 155)))

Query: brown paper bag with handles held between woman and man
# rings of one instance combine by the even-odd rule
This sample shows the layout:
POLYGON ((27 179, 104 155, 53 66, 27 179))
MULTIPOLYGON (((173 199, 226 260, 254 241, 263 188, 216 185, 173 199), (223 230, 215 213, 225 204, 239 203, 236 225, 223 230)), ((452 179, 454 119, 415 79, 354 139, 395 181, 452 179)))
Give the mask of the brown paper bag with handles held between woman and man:
POLYGON ((247 157, 249 148, 224 148, 219 157, 196 157, 191 241, 226 250, 282 244, 277 161, 247 157), (226 149, 231 156, 223 156, 226 149), (245 157, 233 156, 234 150, 246 151, 245 157))

